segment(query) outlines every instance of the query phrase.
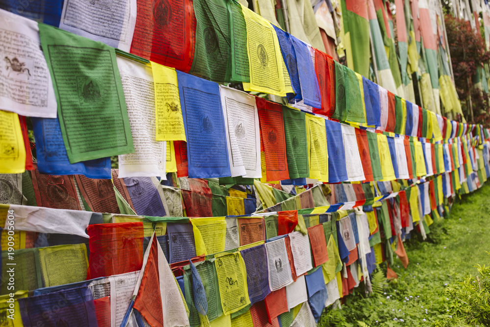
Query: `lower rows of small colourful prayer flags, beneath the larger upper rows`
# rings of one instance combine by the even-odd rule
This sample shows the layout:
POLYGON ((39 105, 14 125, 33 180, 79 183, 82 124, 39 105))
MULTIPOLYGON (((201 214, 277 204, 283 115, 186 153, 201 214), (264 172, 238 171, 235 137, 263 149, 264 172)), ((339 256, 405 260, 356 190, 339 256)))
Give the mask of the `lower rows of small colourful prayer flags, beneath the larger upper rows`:
MULTIPOLYGON (((447 216, 452 197, 486 181, 489 154, 482 148, 475 150, 477 172, 463 185, 458 170, 295 187, 291 194, 258 180, 253 188, 229 188, 176 174, 169 175, 172 186, 155 177, 117 178, 116 170, 114 185, 75 176, 80 194, 70 200, 80 197, 86 210, 55 208, 70 176, 45 182, 39 194, 25 187, 31 175, 19 174, 17 191, 27 203, 0 205, 0 309, 15 326, 316 326, 322 310, 355 287, 370 291, 376 264, 393 265, 396 254, 407 267, 402 240, 414 229, 425 238, 433 221, 447 216), (224 194, 227 215, 209 217, 206 210, 222 206, 215 196, 224 194), (243 214, 254 197, 263 209, 243 214), (175 210, 180 199, 185 205, 175 210), (15 283, 8 263, 15 264, 15 283)), ((470 157, 458 163, 473 169, 470 157)), ((33 171, 32 182, 34 174, 47 176, 33 171)))

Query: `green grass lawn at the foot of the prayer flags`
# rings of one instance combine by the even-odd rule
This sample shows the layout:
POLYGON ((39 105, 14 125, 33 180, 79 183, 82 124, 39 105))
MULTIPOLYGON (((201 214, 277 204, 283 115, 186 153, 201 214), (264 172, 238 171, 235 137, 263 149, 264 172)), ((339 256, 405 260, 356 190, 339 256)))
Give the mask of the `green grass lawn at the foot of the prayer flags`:
MULTIPOLYGON (((430 226, 427 240, 413 233, 405 243, 408 268, 397 258, 391 267, 398 279, 373 276, 383 286, 376 294, 366 295, 362 283, 342 309, 327 308, 319 326, 478 326, 463 322, 461 302, 446 290, 490 261, 489 184, 456 201, 448 218, 430 226)), ((375 274, 386 276, 386 264, 375 274)))

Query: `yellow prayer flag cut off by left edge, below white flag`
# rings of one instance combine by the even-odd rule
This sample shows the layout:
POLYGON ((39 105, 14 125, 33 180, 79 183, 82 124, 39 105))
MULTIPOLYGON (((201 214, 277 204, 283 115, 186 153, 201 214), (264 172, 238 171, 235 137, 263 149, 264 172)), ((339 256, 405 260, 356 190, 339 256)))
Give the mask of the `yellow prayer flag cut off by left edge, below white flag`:
POLYGON ((16 113, 0 110, 0 174, 25 172, 25 148, 16 113))

